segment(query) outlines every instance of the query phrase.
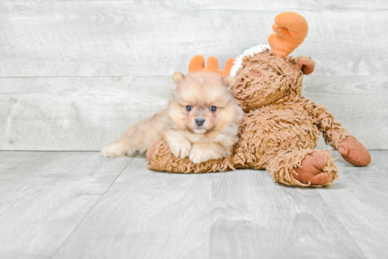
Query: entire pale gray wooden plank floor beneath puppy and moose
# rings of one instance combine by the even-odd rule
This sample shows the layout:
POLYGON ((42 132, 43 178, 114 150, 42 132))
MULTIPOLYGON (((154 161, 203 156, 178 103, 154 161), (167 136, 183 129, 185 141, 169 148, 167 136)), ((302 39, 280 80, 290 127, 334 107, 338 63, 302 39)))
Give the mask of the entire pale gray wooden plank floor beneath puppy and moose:
MULTIPOLYGON (((0 152, 1 258, 387 258, 388 150, 330 188, 266 171, 166 174, 143 156, 0 152)), ((334 157, 338 157, 334 152, 334 157)))

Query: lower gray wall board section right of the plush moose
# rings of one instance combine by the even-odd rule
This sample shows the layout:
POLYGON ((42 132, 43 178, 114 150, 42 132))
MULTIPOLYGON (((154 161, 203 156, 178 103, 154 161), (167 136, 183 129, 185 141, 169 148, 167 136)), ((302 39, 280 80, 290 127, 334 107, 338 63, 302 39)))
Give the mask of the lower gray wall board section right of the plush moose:
POLYGON ((369 149, 388 149, 388 77, 305 76, 302 94, 329 108, 369 149))

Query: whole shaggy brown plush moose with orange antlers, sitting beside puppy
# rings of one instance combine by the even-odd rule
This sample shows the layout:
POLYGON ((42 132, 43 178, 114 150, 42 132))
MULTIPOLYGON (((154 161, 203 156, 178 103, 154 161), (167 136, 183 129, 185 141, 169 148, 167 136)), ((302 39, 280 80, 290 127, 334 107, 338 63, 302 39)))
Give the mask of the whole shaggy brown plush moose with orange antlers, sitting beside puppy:
MULTIPOLYGON (((147 158, 150 168, 159 171, 200 173, 236 168, 267 169, 274 181, 293 186, 329 186, 338 179, 338 168, 327 150, 315 150, 319 131, 327 143, 346 161, 356 166, 370 163, 368 150, 329 110, 301 95, 303 73, 314 70, 307 57, 287 56, 307 35, 308 25, 297 13, 281 13, 272 27, 278 34, 269 36, 268 49, 238 58, 231 92, 245 112, 241 136, 234 155, 222 160, 193 164, 190 159, 171 155, 164 141, 155 143, 147 158)), ((203 59, 203 58, 202 58, 203 59)), ((200 56, 193 58, 190 71, 204 66, 200 56), (198 64, 200 64, 198 66, 198 64)), ((214 60, 209 59, 214 64, 214 60)), ((226 76, 231 60, 224 71, 226 76)), ((212 71, 211 69, 208 71, 212 71)))

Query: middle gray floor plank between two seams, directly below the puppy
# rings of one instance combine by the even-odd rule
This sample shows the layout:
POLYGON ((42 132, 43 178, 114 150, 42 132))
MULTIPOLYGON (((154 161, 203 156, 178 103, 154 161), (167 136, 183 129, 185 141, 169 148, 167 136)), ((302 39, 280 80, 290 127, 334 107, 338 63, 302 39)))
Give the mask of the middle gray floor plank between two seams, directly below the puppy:
POLYGON ((135 157, 53 258, 209 258, 212 174, 135 157))

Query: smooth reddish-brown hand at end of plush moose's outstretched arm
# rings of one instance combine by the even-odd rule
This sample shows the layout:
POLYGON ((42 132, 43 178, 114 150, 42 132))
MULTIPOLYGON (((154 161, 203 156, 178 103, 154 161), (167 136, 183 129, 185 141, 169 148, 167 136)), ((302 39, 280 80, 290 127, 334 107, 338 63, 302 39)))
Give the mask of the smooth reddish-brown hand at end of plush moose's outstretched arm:
POLYGON ((347 162, 357 167, 366 167, 372 160, 370 152, 356 138, 342 140, 339 143, 338 152, 347 162))

